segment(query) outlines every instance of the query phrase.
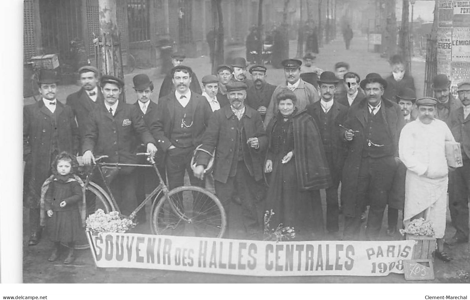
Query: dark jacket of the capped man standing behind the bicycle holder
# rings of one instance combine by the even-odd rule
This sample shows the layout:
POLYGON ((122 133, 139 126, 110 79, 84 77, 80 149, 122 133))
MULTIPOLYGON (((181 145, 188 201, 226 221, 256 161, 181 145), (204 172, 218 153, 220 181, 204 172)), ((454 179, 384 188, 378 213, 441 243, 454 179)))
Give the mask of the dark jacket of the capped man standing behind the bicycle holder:
POLYGON ((100 88, 98 88, 96 102, 93 102, 93 100, 90 99, 83 87, 77 92, 67 96, 66 103, 72 108, 75 119, 77 120, 78 131, 80 132, 80 145, 85 139, 86 126, 90 119, 90 111, 96 109, 96 106, 98 105, 103 105, 103 101, 104 98, 100 88))

